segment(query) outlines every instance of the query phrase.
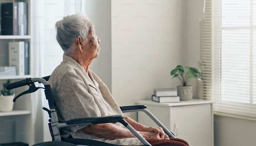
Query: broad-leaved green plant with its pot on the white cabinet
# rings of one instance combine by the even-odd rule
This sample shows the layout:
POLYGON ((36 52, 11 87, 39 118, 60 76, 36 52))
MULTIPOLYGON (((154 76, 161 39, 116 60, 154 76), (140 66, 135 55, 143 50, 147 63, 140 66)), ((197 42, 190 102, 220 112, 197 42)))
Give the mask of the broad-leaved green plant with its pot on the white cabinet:
POLYGON ((201 73, 196 68, 189 68, 178 65, 171 71, 172 78, 176 77, 180 80, 181 85, 177 86, 178 96, 180 100, 191 100, 193 98, 192 86, 188 85, 191 78, 197 78, 201 73))

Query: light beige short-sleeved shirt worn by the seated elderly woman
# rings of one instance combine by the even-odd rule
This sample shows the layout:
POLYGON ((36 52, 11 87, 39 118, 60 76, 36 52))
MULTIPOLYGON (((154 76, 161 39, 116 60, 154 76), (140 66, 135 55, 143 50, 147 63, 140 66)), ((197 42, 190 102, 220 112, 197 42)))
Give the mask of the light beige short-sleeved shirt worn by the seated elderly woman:
MULTIPOLYGON (((63 55, 63 61, 49 78, 59 122, 76 118, 123 115, 108 87, 91 70, 88 74, 73 58, 63 55)), ((123 124, 114 123, 126 128, 123 124)), ((83 132, 86 126, 60 130, 61 137, 93 139, 116 145, 143 145, 137 138, 109 140, 83 132)))

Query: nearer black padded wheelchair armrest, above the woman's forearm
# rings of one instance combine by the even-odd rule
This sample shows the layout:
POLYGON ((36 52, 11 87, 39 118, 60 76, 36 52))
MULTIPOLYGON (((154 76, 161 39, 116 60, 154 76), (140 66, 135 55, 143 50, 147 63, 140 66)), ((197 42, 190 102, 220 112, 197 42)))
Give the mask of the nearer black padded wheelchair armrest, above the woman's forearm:
POLYGON ((82 124, 82 123, 92 123, 92 124, 103 124, 103 123, 116 123, 124 119, 123 115, 109 115, 109 116, 96 116, 88 118, 78 118, 67 120, 66 124, 82 124))

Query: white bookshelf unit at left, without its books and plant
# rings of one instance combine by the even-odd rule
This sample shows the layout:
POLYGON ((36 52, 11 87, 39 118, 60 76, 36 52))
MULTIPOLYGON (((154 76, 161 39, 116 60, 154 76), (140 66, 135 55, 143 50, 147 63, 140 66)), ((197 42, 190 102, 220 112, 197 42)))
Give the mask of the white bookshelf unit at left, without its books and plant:
MULTIPOLYGON (((8 79, 11 82, 23 80, 33 76, 33 38, 31 37, 31 2, 32 0, 0 0, 0 3, 9 2, 27 2, 28 3, 28 35, 0 35, 0 66, 9 65, 8 42, 26 41, 29 42, 29 75, 0 76, 0 89, 3 88, 3 82, 8 79)), ((0 11, 1 13, 1 11, 0 11)), ((1 16, 1 15, 0 15, 1 16)), ((28 87, 13 89, 15 96, 26 91, 28 87)), ((0 143, 24 142, 29 145, 34 144, 34 123, 32 115, 36 112, 32 110, 34 105, 33 96, 35 93, 21 96, 14 103, 13 111, 0 112, 0 143)))

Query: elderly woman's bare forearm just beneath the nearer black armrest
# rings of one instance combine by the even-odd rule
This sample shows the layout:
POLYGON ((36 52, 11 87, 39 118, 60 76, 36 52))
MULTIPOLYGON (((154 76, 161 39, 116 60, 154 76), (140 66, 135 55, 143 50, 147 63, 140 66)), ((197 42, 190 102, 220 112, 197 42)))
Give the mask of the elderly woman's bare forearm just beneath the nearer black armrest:
POLYGON ((135 136, 126 128, 112 123, 89 125, 82 128, 82 131, 105 139, 134 138, 135 136))

